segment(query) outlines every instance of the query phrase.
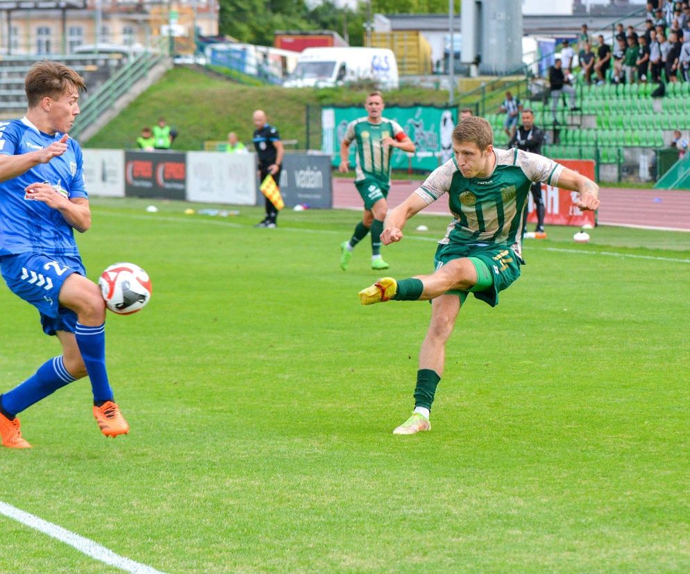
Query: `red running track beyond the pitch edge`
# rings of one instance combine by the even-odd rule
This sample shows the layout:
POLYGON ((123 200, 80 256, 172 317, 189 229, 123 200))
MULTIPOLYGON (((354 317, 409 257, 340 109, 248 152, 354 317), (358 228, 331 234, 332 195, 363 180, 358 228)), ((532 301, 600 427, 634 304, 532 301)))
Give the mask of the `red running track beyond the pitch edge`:
MULTIPOLYGON (((388 193, 389 207, 399 205, 422 182, 423 180, 392 182, 388 193)), ((600 198, 601 207, 598 212, 600 225, 650 227, 690 232, 690 191, 602 187, 600 198)), ((333 207, 362 209, 362 199, 355 189, 353 180, 344 177, 333 178, 333 207)), ((424 211, 447 215, 448 203, 439 200, 424 211)))

